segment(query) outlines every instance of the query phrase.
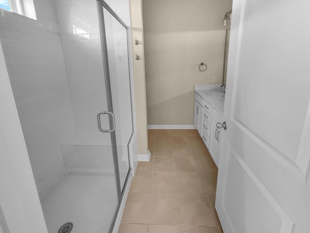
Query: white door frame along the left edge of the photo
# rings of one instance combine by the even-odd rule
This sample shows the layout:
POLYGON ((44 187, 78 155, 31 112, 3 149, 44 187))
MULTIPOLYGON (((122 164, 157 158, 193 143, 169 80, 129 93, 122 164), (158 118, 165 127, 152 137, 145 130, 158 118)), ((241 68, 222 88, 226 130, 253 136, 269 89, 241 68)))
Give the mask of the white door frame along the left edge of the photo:
POLYGON ((0 43, 0 224, 4 233, 47 233, 0 43))

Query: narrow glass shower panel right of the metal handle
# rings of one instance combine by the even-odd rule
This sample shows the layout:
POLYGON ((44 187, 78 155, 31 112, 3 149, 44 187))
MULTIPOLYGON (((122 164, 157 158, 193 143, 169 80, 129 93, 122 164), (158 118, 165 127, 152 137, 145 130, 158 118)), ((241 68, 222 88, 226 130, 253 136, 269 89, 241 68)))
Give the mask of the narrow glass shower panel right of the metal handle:
POLYGON ((114 136, 122 193, 130 169, 128 143, 133 133, 127 26, 108 6, 101 5, 101 15, 106 72, 110 82, 110 110, 115 116, 114 136))

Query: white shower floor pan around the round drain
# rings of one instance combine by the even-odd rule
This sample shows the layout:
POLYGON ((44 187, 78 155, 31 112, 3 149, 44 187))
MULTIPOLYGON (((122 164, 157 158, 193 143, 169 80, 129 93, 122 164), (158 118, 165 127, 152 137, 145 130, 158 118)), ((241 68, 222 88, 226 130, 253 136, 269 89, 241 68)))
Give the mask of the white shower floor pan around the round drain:
POLYGON ((42 203, 48 233, 66 222, 71 233, 108 232, 117 206, 114 176, 65 175, 42 203))

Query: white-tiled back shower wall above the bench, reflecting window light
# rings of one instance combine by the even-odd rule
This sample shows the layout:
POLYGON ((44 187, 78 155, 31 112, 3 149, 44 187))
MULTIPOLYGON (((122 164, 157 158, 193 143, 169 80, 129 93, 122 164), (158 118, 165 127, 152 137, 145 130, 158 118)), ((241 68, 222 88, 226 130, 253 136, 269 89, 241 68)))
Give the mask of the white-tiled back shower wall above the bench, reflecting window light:
POLYGON ((75 133, 100 136, 95 119, 107 109, 107 101, 96 1, 55 0, 55 4, 75 133))

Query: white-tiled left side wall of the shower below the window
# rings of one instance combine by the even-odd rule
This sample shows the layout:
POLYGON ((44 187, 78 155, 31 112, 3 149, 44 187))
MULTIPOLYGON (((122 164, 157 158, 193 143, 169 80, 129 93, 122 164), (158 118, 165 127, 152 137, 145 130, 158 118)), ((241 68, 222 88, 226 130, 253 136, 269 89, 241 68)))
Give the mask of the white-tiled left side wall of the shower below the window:
POLYGON ((60 144, 73 124, 54 1, 34 4, 37 21, 0 10, 0 41, 41 194, 63 170, 60 144))

